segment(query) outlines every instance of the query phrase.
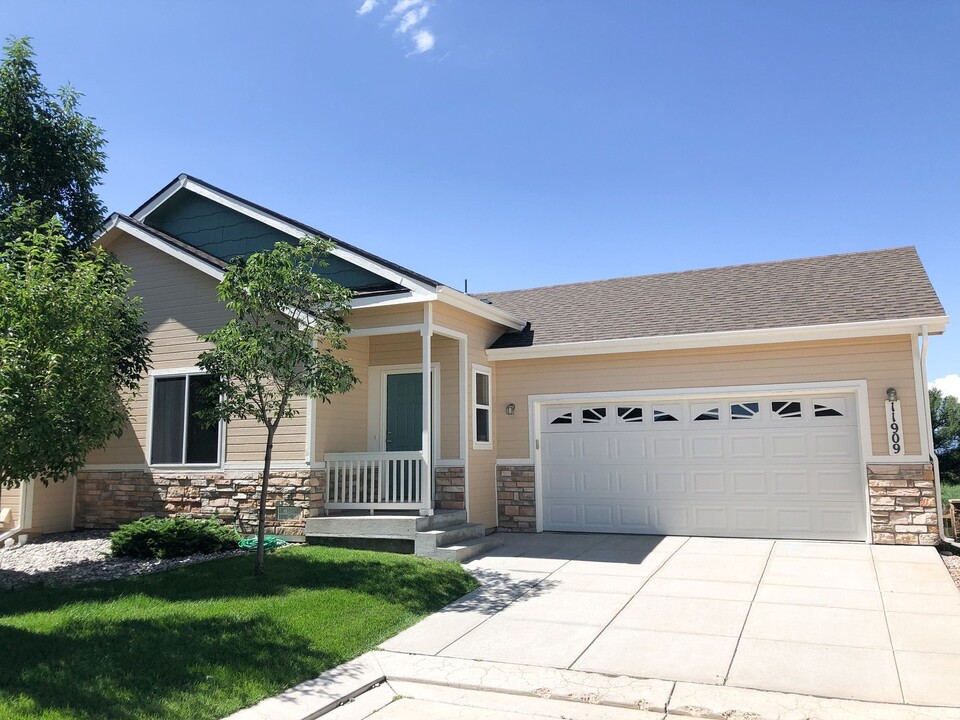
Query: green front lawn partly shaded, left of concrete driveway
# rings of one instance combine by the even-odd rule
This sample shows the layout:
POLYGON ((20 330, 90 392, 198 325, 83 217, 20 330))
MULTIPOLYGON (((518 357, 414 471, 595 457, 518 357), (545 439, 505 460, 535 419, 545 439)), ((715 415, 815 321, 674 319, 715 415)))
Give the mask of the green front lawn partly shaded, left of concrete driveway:
POLYGON ((0 717, 222 718, 476 587, 454 563, 324 547, 0 593, 0 717))

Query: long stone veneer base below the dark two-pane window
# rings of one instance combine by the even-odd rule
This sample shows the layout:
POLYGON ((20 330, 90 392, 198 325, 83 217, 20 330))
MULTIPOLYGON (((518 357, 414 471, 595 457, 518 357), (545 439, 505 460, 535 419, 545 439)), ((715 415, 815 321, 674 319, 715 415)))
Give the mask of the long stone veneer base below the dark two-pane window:
MULTIPOLYGON (((323 508, 323 470, 278 470, 267 492, 267 532, 302 535, 305 520, 323 508), (298 517, 278 520, 278 505, 299 508, 298 517)), ((153 473, 148 471, 77 474, 75 524, 78 528, 114 528, 138 518, 183 515, 216 519, 254 532, 260 473, 153 473)))

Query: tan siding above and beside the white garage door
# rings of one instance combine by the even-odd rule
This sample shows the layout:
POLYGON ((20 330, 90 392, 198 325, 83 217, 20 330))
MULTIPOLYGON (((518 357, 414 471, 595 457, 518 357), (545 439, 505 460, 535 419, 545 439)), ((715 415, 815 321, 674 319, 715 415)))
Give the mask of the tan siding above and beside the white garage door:
MULTIPOLYGON (((883 401, 899 390, 907 454, 920 453, 911 336, 779 343, 538 360, 496 364, 496 405, 515 403, 499 417, 497 455, 528 458, 528 395, 866 380, 873 452, 886 455, 883 401)), ((499 415, 499 414, 498 414, 499 415)))

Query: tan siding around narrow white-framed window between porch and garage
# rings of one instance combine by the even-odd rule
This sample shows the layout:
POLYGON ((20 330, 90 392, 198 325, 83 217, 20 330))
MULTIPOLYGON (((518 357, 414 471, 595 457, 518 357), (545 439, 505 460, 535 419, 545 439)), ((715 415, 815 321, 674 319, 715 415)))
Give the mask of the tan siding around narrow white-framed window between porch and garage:
POLYGON ((497 524, 497 486, 496 486, 496 459, 494 450, 480 450, 473 447, 474 436, 474 384, 473 365, 484 365, 492 370, 493 406, 490 408, 493 447, 497 447, 497 438, 503 432, 501 425, 504 419, 503 412, 497 398, 497 384, 499 369, 494 363, 487 360, 486 349, 503 334, 505 328, 490 320, 485 320, 463 310, 445 305, 433 304, 433 321, 437 325, 466 333, 467 341, 467 455, 469 458, 467 473, 469 476, 470 521, 483 523, 484 527, 492 528, 497 524))

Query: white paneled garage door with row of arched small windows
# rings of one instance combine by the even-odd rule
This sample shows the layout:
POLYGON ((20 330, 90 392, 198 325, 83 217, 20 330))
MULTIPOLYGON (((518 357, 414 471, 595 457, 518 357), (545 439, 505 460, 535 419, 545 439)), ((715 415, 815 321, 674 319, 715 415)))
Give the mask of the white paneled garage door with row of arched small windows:
POLYGON ((852 394, 541 413, 544 530, 866 539, 852 394))

